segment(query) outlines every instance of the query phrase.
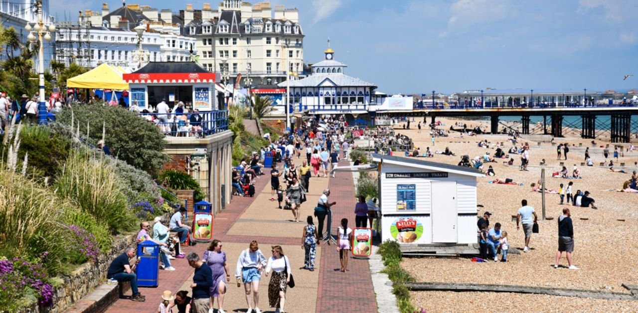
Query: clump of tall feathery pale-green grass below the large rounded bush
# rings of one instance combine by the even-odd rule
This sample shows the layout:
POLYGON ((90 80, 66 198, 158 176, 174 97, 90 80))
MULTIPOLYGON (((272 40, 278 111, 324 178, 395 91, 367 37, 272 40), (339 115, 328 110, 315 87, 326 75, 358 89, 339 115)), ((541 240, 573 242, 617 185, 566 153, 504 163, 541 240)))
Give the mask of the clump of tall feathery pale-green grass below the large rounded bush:
POLYGON ((115 232, 131 230, 137 222, 121 184, 114 166, 72 153, 58 175, 56 189, 60 196, 74 201, 83 212, 115 232))

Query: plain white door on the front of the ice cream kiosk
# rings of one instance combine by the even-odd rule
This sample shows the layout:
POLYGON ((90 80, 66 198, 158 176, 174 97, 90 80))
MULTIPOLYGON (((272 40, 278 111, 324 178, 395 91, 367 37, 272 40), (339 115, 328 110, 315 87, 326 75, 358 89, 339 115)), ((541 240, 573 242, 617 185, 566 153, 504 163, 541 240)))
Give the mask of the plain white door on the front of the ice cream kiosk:
POLYGON ((458 241, 456 182, 432 182, 432 242, 458 241))

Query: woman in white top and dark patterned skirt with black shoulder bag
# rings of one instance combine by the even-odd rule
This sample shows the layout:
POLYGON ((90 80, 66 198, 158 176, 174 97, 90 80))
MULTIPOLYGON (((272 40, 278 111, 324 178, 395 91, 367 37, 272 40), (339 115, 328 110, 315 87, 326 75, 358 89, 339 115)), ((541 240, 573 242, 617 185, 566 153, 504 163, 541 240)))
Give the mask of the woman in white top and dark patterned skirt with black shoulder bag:
POLYGON ((286 289, 288 289, 288 282, 290 282, 290 261, 283 254, 280 245, 272 246, 272 256, 268 259, 266 276, 271 271, 271 282, 268 284, 268 303, 270 307, 277 309, 276 313, 281 313, 286 303, 286 289))

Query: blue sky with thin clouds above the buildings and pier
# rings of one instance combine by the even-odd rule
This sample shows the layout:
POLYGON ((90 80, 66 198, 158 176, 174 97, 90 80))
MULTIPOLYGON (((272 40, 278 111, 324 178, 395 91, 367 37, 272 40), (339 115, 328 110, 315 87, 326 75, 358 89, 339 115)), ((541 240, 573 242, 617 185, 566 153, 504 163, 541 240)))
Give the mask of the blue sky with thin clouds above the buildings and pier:
MULTIPOLYGON (((255 4, 257 1, 254 1, 255 4)), ((50 0, 63 20, 112 0, 50 0), (74 8, 69 10, 69 8, 74 8)), ((170 8, 207 0, 138 0, 170 8)), ((636 0, 273 0, 298 8, 304 62, 330 38, 346 75, 389 94, 468 89, 638 89, 636 0), (623 76, 635 74, 623 81, 623 76)))

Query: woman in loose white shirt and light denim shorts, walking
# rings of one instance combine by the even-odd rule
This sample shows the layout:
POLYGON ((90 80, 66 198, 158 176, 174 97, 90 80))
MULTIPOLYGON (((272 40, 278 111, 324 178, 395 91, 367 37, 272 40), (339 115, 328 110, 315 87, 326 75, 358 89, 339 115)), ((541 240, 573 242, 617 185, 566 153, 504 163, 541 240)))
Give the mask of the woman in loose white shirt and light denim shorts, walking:
POLYGON ((237 268, 235 268, 235 277, 237 277, 237 287, 241 286, 244 281, 244 290, 246 291, 246 304, 248 310, 252 312, 253 307, 250 305, 250 294, 253 293, 253 303, 255 304, 255 312, 262 313, 258 308, 259 305, 259 280, 262 279, 262 270, 266 266, 266 258, 262 251, 259 251, 259 245, 253 240, 248 249, 239 254, 237 259, 237 268), (241 279, 241 280, 240 280, 241 279))

